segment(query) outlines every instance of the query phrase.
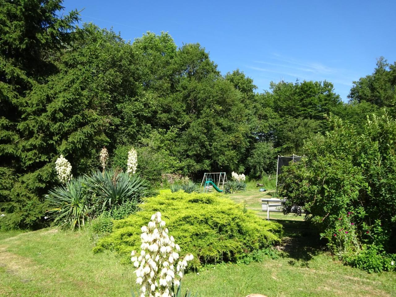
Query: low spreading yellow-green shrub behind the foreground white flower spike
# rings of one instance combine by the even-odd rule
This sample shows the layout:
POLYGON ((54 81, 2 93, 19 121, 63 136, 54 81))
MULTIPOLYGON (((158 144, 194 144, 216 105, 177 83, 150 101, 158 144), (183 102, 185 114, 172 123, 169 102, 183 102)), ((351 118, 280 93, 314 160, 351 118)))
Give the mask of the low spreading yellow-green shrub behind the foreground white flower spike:
MULTIPOLYGON (((129 259, 139 250, 141 226, 160 211, 169 234, 179 242, 183 255, 194 255, 192 268, 206 263, 237 261, 246 253, 280 241, 282 227, 267 222, 221 194, 176 192, 147 198, 140 211, 114 221, 113 231, 101 238, 94 251, 115 249, 129 259)), ((181 255, 181 256, 183 256, 181 255)))

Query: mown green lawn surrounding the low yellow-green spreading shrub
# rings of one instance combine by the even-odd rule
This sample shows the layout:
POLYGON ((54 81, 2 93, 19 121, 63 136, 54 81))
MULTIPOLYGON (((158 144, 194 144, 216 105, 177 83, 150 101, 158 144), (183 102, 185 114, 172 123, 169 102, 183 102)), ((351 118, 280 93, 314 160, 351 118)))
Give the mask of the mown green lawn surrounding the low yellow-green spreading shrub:
MULTIPOLYGON (((246 199, 248 208, 259 211, 261 196, 249 190, 230 198, 246 199)), ((301 218, 270 215, 286 222, 291 240, 282 247, 283 257, 190 272, 183 287, 199 291, 202 297, 396 296, 396 273, 368 274, 345 267, 323 251, 301 218)), ((94 254, 92 245, 88 232, 46 228, 0 233, 0 296, 131 296, 132 265, 122 265, 111 251, 94 254)))

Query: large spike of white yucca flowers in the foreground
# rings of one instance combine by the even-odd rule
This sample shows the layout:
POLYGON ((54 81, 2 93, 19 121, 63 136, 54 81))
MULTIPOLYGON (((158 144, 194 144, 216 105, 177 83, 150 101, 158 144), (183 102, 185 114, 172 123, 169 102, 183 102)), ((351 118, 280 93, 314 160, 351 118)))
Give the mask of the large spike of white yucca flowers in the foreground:
POLYGON ((172 287, 176 290, 180 285, 187 261, 194 256, 187 254, 184 259, 179 259, 180 247, 173 236, 169 238, 160 212, 152 215, 147 227, 143 226, 141 230, 140 255, 137 257, 136 251, 131 253, 131 261, 137 268, 136 284, 141 286, 140 297, 172 297, 172 287))

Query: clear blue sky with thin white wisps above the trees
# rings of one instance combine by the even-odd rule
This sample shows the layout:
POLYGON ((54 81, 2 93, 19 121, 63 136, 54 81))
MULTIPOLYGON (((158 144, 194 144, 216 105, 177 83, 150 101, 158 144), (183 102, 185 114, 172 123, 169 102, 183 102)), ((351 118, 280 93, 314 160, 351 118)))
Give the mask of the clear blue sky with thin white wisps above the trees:
POLYGON ((167 31, 199 42, 222 74, 239 68, 262 92, 270 81, 328 80, 344 101, 376 59, 396 61, 396 1, 65 0, 82 22, 133 40, 167 31))

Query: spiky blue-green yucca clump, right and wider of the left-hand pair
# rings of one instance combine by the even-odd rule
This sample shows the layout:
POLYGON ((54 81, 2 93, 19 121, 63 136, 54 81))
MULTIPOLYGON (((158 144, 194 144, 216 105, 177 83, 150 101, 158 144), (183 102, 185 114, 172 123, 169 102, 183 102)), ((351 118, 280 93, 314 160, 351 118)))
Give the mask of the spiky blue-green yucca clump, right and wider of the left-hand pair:
POLYGON ((126 201, 141 202, 147 190, 145 179, 139 175, 131 175, 113 170, 99 170, 86 175, 89 190, 95 194, 95 201, 101 210, 109 210, 113 205, 120 205, 126 201))

